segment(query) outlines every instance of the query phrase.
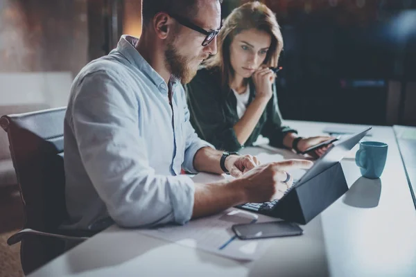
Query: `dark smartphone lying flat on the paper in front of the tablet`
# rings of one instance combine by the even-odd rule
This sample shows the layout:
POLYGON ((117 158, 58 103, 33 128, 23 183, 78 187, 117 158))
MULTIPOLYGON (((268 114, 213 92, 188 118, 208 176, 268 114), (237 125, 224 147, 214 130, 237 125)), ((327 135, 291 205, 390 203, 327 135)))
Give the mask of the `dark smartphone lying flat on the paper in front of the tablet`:
POLYGON ((275 238, 289 235, 302 235, 300 226, 292 222, 275 221, 252 224, 234 224, 232 231, 241 240, 252 240, 255 238, 275 238))

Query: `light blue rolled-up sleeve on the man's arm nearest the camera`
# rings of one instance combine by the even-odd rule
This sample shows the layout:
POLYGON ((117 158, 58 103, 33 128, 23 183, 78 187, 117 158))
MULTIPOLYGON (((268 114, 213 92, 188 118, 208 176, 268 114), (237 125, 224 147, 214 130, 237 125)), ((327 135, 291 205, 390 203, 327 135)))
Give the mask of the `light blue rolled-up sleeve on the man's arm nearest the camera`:
MULTIPOLYGON (((71 127, 96 193, 120 226, 191 219, 194 184, 187 176, 155 174, 138 125, 140 102, 116 72, 89 73, 72 102, 71 127)), ((190 140, 191 157, 202 142, 190 140)))

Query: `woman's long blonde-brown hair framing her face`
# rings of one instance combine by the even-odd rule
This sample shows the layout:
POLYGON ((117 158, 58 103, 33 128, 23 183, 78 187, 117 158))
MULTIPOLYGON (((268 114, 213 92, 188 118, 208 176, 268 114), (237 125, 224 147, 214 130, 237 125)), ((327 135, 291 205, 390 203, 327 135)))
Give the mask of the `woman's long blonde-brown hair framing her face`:
POLYGON ((205 62, 208 69, 218 67, 222 75, 223 85, 227 85, 229 79, 234 77, 234 69, 232 69, 229 53, 232 41, 243 30, 251 28, 263 30, 270 34, 272 43, 263 64, 277 66, 279 55, 283 49, 283 37, 275 14, 259 1, 245 3, 239 8, 235 8, 225 19, 224 26, 217 37, 218 53, 205 62))

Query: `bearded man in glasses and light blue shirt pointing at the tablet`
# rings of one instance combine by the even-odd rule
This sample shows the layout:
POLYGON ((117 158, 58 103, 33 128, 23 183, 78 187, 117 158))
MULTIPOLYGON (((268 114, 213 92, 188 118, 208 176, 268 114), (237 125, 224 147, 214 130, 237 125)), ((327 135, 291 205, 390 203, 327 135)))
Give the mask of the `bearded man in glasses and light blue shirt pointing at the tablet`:
POLYGON ((284 170, 311 162, 257 166, 256 157, 214 150, 189 123, 180 82, 216 53, 220 2, 143 0, 142 12, 140 39, 121 37, 71 87, 64 121, 69 228, 184 224, 281 197, 292 184, 284 170), (239 178, 194 184, 181 168, 239 178))

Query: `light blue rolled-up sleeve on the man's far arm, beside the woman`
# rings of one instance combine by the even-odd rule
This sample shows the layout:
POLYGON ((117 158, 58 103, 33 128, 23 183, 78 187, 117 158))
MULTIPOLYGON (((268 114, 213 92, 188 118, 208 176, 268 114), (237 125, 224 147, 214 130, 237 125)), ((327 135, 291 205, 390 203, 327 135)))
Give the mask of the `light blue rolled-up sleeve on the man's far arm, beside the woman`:
POLYGON ((186 170, 187 172, 191 173, 198 173, 198 171, 193 167, 193 160, 195 158, 196 152, 200 150, 201 148, 209 147, 214 148, 214 145, 211 145, 211 143, 207 143, 207 141, 204 141, 198 137, 198 134, 196 134, 195 129, 193 129, 191 122, 189 120, 189 109, 187 105, 186 96, 184 94, 184 90, 181 88, 182 91, 182 99, 184 103, 184 118, 185 118, 185 129, 184 135, 186 136, 185 141, 185 156, 184 156, 184 163, 182 164, 182 168, 186 170))

